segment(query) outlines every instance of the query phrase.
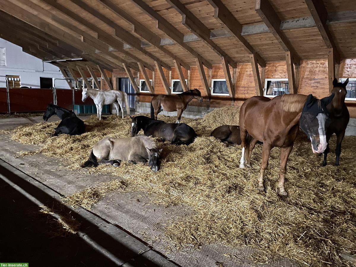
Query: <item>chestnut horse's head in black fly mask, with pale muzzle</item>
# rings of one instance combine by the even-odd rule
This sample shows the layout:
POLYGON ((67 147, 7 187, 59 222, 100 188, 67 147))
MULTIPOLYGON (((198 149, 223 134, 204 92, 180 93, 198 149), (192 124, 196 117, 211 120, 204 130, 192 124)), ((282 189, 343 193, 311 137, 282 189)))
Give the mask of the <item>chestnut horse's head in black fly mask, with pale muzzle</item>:
POLYGON ((327 105, 333 100, 335 94, 322 99, 308 95, 302 114, 299 119, 300 129, 312 142, 313 153, 323 153, 328 143, 326 142, 326 129, 331 123, 327 105))

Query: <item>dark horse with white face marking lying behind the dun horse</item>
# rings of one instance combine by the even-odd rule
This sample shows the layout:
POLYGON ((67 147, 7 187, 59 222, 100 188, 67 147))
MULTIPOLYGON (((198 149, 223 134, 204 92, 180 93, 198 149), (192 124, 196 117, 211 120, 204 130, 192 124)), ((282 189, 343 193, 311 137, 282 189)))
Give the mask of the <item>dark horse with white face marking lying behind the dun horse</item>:
POLYGON ((146 136, 160 137, 176 145, 189 145, 197 137, 194 129, 185 123, 166 123, 146 116, 131 117, 131 137, 142 129, 146 136))

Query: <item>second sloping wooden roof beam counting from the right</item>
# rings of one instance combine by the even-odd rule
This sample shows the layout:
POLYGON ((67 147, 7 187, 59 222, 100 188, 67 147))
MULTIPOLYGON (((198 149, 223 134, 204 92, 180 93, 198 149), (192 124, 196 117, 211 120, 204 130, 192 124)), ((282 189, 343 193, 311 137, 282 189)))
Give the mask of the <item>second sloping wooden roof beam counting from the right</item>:
POLYGON ((281 20, 279 19, 276 11, 271 6, 268 0, 256 0, 255 10, 257 14, 261 17, 262 21, 265 22, 269 31, 273 34, 274 38, 282 46, 285 52, 290 51, 293 57, 295 65, 300 65, 300 58, 295 52, 294 48, 290 44, 288 38, 281 31, 281 20))

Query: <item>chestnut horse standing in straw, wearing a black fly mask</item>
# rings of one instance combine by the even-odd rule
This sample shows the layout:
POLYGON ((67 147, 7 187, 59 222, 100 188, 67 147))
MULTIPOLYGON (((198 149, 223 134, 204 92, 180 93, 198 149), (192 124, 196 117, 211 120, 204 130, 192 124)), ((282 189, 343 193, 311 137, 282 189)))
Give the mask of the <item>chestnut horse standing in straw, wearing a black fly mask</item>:
POLYGON ((330 124, 326 106, 334 94, 321 100, 313 95, 284 94, 269 99, 252 96, 240 109, 240 136, 242 156, 240 168, 250 167, 251 153, 257 141, 263 142, 261 173, 258 177, 258 190, 265 192, 263 178, 268 167, 269 153, 273 147, 281 148, 279 165, 279 194, 288 197, 284 189, 287 161, 298 135, 299 127, 308 135, 314 153, 326 149, 326 128, 330 124), (246 161, 245 161, 246 159, 246 161))

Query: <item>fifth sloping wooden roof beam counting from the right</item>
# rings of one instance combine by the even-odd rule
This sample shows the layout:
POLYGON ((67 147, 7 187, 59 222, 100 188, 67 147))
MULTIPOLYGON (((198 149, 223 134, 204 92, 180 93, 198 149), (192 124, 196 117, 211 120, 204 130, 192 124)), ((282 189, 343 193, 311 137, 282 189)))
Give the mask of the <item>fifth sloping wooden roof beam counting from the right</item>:
POLYGON ((189 45, 183 42, 184 35, 181 33, 179 30, 177 30, 176 27, 174 27, 171 23, 169 23, 164 17, 158 14, 155 10, 152 9, 149 5, 147 5, 144 1, 142 0, 131 0, 134 4, 136 4, 143 12, 145 12, 146 15, 150 16, 151 19, 155 20, 157 22, 157 28, 161 30, 164 34, 166 34, 169 38, 171 38, 174 42, 176 42, 180 47, 185 49, 188 53, 190 53, 193 57, 198 58, 204 66, 207 68, 211 69, 211 63, 201 57, 199 53, 194 51, 193 48, 191 48, 189 45))

